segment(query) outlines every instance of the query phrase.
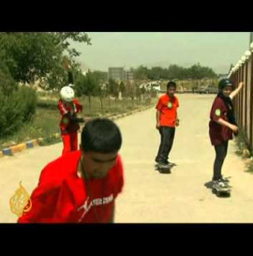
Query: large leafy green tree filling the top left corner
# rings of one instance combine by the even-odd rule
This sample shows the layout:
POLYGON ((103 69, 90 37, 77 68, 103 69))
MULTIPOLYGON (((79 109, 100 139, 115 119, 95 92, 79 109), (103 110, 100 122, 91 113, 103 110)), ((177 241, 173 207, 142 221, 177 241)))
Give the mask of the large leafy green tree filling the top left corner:
POLYGON ((69 59, 80 55, 69 48, 69 39, 91 44, 86 33, 1 33, 0 56, 15 81, 34 83, 41 79, 42 86, 52 89, 66 76, 65 53, 69 59))

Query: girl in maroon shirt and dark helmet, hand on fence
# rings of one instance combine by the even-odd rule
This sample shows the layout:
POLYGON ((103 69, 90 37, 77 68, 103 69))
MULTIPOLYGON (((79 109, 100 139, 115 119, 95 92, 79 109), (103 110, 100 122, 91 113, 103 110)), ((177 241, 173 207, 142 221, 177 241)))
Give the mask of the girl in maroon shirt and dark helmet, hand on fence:
POLYGON ((228 180, 222 177, 221 168, 227 156, 229 140, 232 140, 233 134, 235 136, 238 134, 232 98, 240 92, 243 86, 244 83, 239 83, 238 88, 232 92, 231 80, 222 79, 218 83, 218 94, 211 109, 209 122, 209 136, 216 150, 214 187, 228 188, 228 180))

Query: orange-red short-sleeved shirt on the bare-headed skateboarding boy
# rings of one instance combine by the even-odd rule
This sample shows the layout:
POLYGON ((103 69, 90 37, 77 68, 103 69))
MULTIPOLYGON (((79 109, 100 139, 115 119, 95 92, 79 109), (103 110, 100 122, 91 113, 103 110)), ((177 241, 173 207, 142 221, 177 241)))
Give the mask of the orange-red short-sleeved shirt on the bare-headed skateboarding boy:
POLYGON ((177 108, 179 107, 178 98, 171 98, 168 94, 159 98, 156 110, 160 112, 161 127, 175 127, 177 108))

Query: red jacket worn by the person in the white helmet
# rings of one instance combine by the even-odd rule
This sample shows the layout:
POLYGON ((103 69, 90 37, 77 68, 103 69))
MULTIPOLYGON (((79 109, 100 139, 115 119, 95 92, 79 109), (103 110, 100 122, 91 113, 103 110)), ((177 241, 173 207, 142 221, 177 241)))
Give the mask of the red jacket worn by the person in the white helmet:
POLYGON ((62 99, 59 99, 58 109, 62 115, 60 121, 60 128, 62 134, 75 132, 79 130, 80 125, 77 122, 71 122, 69 117, 66 116, 66 114, 76 114, 82 112, 82 104, 76 98, 73 99, 73 102, 70 102, 69 104, 66 104, 62 99))

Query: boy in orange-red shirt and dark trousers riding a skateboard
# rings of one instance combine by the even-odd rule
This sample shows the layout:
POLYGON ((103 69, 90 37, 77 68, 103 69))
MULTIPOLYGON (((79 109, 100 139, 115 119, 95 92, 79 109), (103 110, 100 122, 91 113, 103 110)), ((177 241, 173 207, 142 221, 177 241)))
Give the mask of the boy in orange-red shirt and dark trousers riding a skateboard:
POLYGON ((174 96, 176 83, 167 84, 167 94, 160 97, 156 104, 156 128, 159 130, 161 142, 156 156, 158 167, 166 168, 172 164, 168 161, 175 135, 175 127, 179 125, 177 108, 178 98, 174 96))

